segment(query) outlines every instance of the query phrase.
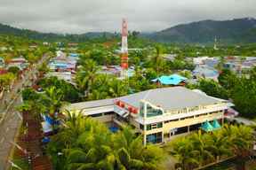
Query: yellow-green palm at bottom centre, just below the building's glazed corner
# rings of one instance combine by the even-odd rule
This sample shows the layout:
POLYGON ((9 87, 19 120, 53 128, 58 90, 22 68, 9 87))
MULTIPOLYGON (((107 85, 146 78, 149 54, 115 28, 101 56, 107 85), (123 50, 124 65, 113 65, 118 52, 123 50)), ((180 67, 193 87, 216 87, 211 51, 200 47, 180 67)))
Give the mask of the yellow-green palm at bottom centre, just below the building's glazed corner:
POLYGON ((144 146, 141 136, 124 127, 114 139, 119 169, 157 169, 164 152, 155 145, 144 146))

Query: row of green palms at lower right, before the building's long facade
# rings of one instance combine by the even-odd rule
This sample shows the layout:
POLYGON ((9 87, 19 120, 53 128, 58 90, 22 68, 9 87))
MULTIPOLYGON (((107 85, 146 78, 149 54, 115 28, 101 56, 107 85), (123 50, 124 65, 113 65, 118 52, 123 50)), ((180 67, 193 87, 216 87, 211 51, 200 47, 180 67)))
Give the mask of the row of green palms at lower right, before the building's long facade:
POLYGON ((223 158, 236 157, 238 169, 244 169, 245 158, 252 151, 252 128, 224 126, 212 133, 198 132, 177 138, 166 146, 178 159, 179 166, 193 169, 223 158))

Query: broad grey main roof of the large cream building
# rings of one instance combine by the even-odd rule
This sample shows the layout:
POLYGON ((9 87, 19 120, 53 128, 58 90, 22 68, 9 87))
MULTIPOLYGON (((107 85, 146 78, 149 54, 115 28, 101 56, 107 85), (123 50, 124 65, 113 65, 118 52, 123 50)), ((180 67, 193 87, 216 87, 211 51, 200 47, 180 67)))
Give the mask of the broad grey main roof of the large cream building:
POLYGON ((162 107, 164 110, 220 103, 220 100, 217 98, 209 97, 183 87, 149 89, 129 96, 119 97, 118 99, 137 108, 140 106, 140 100, 145 100, 150 104, 162 107))

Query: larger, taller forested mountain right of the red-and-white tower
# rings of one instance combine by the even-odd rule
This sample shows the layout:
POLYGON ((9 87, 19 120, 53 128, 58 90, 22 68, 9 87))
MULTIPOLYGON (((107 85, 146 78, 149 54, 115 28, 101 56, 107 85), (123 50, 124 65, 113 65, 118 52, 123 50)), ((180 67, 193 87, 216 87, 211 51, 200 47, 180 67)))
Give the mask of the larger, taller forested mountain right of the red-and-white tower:
POLYGON ((157 42, 212 43, 256 42, 256 19, 203 20, 170 27, 150 35, 157 42))

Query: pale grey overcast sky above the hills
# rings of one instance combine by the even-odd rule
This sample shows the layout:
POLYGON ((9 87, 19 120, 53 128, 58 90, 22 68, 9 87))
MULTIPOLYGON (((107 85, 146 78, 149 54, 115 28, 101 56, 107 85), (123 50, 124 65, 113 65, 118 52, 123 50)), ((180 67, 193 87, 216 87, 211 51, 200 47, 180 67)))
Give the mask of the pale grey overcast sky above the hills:
POLYGON ((256 0, 0 0, 0 22, 42 32, 157 31, 202 19, 256 18, 256 0))

